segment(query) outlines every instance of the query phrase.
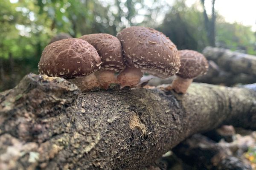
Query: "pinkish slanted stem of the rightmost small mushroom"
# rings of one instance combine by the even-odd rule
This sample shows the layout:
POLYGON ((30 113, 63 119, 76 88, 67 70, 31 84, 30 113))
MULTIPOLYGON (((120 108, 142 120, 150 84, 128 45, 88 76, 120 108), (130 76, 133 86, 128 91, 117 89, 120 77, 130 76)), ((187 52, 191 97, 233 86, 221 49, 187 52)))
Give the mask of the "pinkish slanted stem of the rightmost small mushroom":
POLYGON ((192 81, 193 79, 184 79, 182 77, 176 76, 172 81, 172 84, 166 87, 165 90, 174 90, 177 93, 185 94, 192 81))

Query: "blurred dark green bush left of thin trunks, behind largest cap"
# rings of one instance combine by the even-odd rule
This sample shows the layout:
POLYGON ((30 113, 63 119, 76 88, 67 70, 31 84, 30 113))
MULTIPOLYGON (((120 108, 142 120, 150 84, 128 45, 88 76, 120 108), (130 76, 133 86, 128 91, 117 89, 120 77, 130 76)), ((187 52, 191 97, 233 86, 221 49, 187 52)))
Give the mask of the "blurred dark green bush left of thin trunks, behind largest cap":
POLYGON ((170 37, 178 49, 202 51, 208 45, 204 17, 198 4, 189 8, 185 0, 176 1, 157 29, 170 37))

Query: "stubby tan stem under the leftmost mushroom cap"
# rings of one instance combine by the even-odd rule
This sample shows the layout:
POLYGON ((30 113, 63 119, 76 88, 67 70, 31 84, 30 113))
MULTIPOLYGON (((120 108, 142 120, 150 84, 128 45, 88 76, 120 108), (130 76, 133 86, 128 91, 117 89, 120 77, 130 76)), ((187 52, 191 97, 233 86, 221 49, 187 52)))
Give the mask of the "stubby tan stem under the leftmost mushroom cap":
POLYGON ((88 76, 67 80, 75 84, 81 91, 90 91, 95 88, 99 88, 99 81, 94 73, 89 74, 88 76))

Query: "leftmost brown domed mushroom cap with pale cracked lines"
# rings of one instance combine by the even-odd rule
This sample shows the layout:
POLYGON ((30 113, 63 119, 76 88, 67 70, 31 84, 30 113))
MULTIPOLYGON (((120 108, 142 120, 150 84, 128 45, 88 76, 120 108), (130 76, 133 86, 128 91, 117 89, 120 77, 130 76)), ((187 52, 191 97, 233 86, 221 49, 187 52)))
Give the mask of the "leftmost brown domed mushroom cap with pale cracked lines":
POLYGON ((38 63, 39 73, 53 77, 87 76, 100 68, 96 49, 88 42, 70 38, 52 42, 44 48, 38 63))

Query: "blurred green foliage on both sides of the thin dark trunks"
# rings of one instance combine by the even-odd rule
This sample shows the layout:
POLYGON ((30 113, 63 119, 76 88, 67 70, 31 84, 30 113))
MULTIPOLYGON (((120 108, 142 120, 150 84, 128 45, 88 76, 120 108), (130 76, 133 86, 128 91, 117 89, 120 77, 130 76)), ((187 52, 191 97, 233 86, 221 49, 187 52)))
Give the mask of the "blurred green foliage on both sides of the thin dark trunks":
MULTIPOLYGON (((209 43, 201 4, 195 3, 189 8, 185 1, 177 0, 157 29, 170 37, 178 49, 202 51, 209 43)), ((217 46, 256 55, 256 34, 251 27, 227 23, 218 14, 215 41, 217 46)))

